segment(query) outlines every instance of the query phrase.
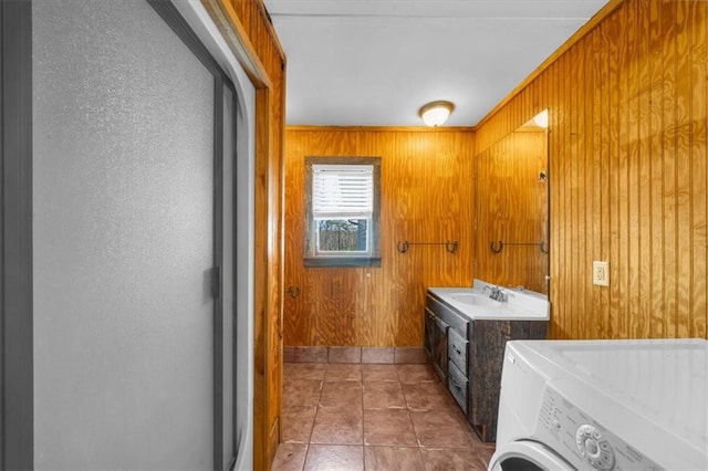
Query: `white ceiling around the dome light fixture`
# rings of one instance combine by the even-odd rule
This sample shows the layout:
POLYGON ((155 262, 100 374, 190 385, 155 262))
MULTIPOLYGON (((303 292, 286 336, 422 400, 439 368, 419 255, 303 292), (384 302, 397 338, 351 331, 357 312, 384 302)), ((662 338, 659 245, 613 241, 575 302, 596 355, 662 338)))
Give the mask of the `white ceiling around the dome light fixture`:
POLYGON ((607 0, 264 0, 288 56, 289 125, 472 126, 607 0))

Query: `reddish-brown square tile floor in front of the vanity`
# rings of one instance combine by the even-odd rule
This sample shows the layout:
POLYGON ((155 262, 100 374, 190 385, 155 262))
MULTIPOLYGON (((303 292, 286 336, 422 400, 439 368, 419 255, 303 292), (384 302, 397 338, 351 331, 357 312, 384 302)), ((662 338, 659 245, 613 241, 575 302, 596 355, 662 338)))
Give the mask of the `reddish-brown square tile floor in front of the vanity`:
POLYGON ((273 470, 486 470, 429 365, 285 363, 273 470))

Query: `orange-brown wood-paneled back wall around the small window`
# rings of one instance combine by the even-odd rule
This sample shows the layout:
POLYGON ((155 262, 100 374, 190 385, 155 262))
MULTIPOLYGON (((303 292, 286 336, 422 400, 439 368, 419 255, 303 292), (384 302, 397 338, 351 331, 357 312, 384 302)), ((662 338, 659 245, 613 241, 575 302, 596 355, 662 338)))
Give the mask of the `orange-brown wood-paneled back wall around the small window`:
POLYGON ((473 155, 470 129, 287 128, 285 345, 423 345, 426 287, 471 285, 473 155), (382 158, 381 268, 303 266, 305 156, 382 158))

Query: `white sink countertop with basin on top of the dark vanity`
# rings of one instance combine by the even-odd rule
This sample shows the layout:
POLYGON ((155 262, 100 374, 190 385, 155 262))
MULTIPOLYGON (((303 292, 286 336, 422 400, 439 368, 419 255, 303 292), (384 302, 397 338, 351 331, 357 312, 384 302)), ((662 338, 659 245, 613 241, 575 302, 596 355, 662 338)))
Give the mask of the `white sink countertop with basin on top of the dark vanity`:
POLYGON ((506 302, 489 297, 491 283, 475 280, 472 287, 429 287, 444 303, 470 320, 548 321, 549 300, 545 294, 502 287, 506 302))

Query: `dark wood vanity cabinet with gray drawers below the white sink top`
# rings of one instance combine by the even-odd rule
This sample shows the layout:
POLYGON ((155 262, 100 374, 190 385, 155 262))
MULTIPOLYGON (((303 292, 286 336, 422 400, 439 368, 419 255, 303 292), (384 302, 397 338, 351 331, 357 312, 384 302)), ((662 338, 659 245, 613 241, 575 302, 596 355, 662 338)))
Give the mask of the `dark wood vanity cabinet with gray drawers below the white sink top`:
POLYGON ((430 293, 425 312, 426 350, 436 373, 479 438, 494 441, 507 342, 545 338, 548 321, 471 321, 430 293))

